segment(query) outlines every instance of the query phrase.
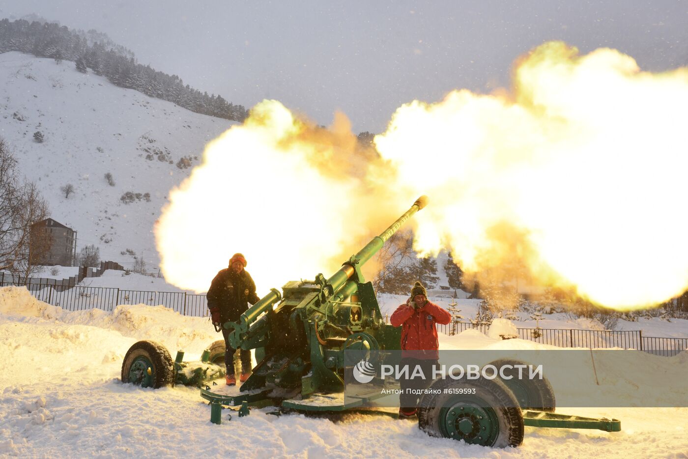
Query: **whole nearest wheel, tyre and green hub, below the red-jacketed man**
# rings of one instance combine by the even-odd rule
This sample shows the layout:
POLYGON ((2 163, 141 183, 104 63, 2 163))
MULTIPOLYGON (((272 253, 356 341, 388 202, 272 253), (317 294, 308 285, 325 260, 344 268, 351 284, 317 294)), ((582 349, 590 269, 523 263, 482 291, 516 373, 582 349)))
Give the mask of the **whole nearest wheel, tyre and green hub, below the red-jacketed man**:
POLYGON ((424 396, 418 410, 418 427, 430 436, 497 448, 523 442, 521 409, 502 381, 447 378, 430 389, 437 393, 424 396), (451 393, 458 389, 464 393, 451 393))

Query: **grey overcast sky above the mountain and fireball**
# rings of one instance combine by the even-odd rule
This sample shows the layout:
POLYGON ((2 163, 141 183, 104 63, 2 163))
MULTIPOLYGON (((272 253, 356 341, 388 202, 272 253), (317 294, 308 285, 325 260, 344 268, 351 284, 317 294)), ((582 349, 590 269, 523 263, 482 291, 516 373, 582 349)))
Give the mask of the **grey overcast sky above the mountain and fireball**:
POLYGON ((94 28, 143 64, 249 108, 275 98, 329 125, 383 131, 394 109, 451 89, 508 85, 513 60, 552 39, 614 47, 644 70, 688 65, 687 1, 3 0, 94 28))

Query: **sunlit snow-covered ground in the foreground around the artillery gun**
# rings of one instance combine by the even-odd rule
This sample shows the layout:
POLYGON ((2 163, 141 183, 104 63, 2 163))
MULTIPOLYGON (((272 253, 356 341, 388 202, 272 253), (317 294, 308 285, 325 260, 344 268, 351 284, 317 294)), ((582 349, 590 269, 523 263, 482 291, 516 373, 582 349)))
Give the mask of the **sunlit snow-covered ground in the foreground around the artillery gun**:
MULTIPOLYGON (((566 409, 619 418, 623 430, 526 427, 522 447, 491 449, 430 438, 416 423, 363 414, 333 423, 252 409, 218 426, 209 422, 210 409, 197 389, 141 389, 119 381, 122 358, 140 339, 160 341, 171 354, 183 348, 186 359, 194 359, 217 337, 207 319, 166 308, 65 312, 23 288, 0 289, 0 456, 688 457, 688 408, 566 409)), ((504 343, 475 330, 440 340, 447 349, 504 343)), ((684 356, 672 359, 685 365, 684 356)))

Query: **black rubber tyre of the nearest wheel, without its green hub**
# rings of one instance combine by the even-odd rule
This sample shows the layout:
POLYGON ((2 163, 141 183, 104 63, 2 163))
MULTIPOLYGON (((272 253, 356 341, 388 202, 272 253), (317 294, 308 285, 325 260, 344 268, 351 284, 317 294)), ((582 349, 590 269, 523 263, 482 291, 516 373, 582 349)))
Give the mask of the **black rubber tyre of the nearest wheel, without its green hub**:
MULTIPOLYGON (((460 387, 462 389, 475 388, 476 396, 480 396, 494 410, 499 423, 499 433, 491 445, 494 448, 517 447, 523 442, 524 420, 521 408, 511 391, 499 379, 438 379, 429 389, 438 389, 438 394, 427 394, 420 401, 418 409, 418 427, 432 437, 443 438, 440 430, 440 410, 444 406, 455 405, 462 397, 471 395, 444 394, 444 389, 460 387)), ((451 437, 449 437, 451 438, 451 437)))

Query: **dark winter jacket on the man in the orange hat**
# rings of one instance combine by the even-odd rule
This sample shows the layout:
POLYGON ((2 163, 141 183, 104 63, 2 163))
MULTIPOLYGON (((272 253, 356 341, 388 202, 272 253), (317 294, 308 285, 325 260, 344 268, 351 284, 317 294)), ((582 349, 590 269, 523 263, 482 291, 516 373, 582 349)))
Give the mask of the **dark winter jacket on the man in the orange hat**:
POLYGON ((230 268, 221 270, 213 279, 206 293, 208 309, 217 307, 222 322, 239 321, 241 314, 248 309, 248 303, 255 304, 256 284, 246 270, 237 274, 230 268))

